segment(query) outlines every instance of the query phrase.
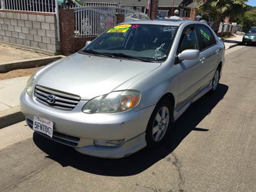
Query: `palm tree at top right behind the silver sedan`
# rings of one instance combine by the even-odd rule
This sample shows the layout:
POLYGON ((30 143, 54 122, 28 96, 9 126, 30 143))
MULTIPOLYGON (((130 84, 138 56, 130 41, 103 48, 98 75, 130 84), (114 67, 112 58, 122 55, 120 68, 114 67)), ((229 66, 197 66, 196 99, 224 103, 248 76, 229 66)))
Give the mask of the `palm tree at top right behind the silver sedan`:
POLYGON ((198 9, 204 13, 215 13, 213 30, 218 32, 219 24, 225 17, 233 21, 236 14, 241 14, 247 0, 205 0, 198 2, 198 9))

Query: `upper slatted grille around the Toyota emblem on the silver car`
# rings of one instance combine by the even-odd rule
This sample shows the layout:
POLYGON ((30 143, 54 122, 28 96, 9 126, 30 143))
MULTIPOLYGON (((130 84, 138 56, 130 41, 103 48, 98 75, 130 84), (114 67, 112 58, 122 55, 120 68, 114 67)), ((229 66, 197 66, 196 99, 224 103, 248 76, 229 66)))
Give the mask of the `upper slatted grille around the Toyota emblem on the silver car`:
POLYGON ((36 85, 35 87, 35 96, 36 99, 47 106, 51 106, 54 108, 62 109, 62 110, 72 110, 76 107, 77 103, 80 101, 80 97, 77 95, 64 93, 61 91, 49 89, 44 86, 36 85), (55 101, 53 103, 49 103, 47 101, 47 97, 49 95, 55 96, 55 101))

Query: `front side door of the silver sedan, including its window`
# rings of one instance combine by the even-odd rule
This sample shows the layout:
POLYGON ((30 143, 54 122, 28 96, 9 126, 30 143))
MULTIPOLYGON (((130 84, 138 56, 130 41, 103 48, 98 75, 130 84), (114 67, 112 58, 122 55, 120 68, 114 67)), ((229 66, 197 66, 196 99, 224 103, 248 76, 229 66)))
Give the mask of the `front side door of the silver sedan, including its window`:
MULTIPOLYGON (((183 30, 177 55, 187 49, 199 49, 195 26, 189 26, 183 30)), ((189 98, 200 89, 200 62, 196 60, 183 60, 176 63, 180 70, 180 94, 179 107, 182 107, 189 98)), ((178 108, 179 108, 178 107, 178 108)))

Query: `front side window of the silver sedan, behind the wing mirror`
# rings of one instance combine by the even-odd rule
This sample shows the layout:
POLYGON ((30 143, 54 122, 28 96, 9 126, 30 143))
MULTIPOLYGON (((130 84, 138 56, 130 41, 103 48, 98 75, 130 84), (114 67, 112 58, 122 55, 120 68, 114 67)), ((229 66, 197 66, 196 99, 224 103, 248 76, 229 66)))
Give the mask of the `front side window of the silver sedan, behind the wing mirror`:
POLYGON ((196 36, 195 27, 186 28, 182 34, 182 41, 179 48, 179 53, 187 49, 198 50, 198 41, 196 36))

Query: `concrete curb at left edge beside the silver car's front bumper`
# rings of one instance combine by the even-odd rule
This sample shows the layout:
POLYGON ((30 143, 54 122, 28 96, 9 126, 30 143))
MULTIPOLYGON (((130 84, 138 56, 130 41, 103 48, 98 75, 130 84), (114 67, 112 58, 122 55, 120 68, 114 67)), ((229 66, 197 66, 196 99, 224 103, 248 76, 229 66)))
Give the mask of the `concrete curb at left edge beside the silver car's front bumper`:
POLYGON ((0 111, 0 129, 25 120, 20 107, 0 111))

